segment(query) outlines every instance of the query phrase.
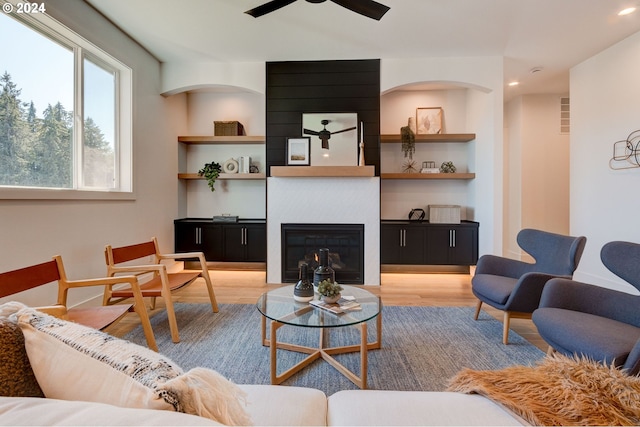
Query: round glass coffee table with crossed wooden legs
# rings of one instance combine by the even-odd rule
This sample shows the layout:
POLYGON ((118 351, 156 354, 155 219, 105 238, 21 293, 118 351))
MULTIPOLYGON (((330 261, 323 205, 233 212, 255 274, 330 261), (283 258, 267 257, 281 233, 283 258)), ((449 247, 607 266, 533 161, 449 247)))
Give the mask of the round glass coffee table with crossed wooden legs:
MULTIPOLYGON (((349 310, 334 314, 314 307, 308 302, 293 299, 293 285, 283 286, 266 292, 258 298, 256 306, 262 314, 262 345, 270 347, 271 384, 281 384, 293 374, 309 366, 315 360, 323 359, 358 387, 367 388, 367 351, 380 348, 382 341, 382 302, 369 291, 355 286, 342 286, 343 297, 354 297, 360 310, 349 310), (375 342, 367 341, 367 321, 376 318, 377 337, 375 342), (267 337, 267 319, 270 320, 270 335, 267 337), (284 325, 301 328, 316 328, 320 333, 318 347, 278 342, 277 331, 284 325), (341 327, 355 327, 360 331, 360 344, 328 347, 329 330, 341 327), (277 349, 308 354, 305 359, 281 374, 277 370, 277 349), (338 362, 333 355, 360 352, 360 376, 338 362)), ((318 299, 318 294, 315 295, 318 299)))

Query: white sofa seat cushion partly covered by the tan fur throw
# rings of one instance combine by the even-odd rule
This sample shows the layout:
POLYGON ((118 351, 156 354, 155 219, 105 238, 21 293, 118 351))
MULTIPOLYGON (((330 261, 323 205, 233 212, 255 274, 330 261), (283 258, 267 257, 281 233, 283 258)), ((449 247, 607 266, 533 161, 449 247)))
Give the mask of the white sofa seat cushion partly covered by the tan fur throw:
POLYGON ((329 396, 330 426, 522 425, 481 396, 429 391, 343 390, 329 396))

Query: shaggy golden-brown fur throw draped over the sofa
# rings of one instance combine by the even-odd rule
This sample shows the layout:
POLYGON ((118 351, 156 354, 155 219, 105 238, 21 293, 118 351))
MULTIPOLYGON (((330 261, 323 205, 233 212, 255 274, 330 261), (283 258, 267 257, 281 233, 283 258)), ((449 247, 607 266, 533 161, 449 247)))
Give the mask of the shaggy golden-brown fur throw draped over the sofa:
POLYGON ((640 425, 640 377, 554 354, 537 366, 464 369, 448 391, 477 393, 534 425, 640 425))

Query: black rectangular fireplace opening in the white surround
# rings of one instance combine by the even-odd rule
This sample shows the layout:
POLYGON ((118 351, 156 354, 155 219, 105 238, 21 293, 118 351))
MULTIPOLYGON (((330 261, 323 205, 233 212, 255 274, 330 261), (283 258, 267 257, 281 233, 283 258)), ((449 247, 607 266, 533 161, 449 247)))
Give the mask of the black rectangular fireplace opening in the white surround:
POLYGON ((364 283, 363 224, 282 224, 282 282, 298 281, 300 265, 309 266, 309 279, 318 266, 321 248, 329 249, 329 266, 336 281, 364 283))

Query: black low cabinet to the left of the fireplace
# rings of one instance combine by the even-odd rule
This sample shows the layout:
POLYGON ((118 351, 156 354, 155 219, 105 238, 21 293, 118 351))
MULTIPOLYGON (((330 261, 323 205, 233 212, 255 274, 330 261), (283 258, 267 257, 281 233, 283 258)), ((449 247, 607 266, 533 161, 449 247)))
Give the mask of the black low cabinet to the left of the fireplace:
POLYGON ((174 232, 176 252, 203 252, 207 261, 267 261, 267 225, 263 219, 228 223, 206 218, 177 219, 174 232))

